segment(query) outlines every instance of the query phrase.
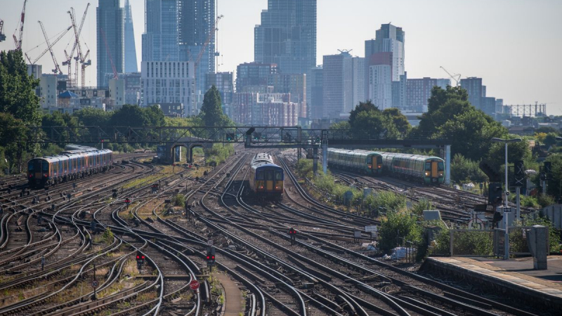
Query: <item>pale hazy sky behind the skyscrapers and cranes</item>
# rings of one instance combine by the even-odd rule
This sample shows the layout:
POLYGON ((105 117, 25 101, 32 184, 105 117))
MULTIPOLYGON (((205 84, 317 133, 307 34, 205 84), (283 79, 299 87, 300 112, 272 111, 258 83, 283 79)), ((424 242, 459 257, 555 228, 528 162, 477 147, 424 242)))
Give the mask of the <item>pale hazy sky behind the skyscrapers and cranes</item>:
MULTIPOLYGON (((144 0, 130 0, 138 61, 144 32, 144 0)), ((81 18, 86 0, 28 0, 23 51, 34 59, 46 48, 37 20, 49 37, 70 26, 74 6, 81 18), (36 48, 39 45, 39 48, 36 48)), ((14 48, 12 34, 23 0, 0 0, 6 41, 0 50, 14 48)), ((86 84, 96 84, 96 6, 91 0, 82 39, 91 50, 92 66, 86 84)), ((124 0, 122 0, 122 6, 124 0)), ((254 26, 267 0, 218 0, 218 51, 221 71, 254 60, 254 26)), ((363 57, 364 41, 383 23, 405 31, 405 67, 409 78, 447 77, 445 67, 462 77, 482 77, 488 96, 504 104, 547 103, 549 114, 562 114, 561 0, 318 0, 317 63, 337 49, 353 49, 363 57)), ((54 46, 58 62, 72 40, 69 32, 54 46)), ((70 45, 69 45, 70 46, 70 45)), ((48 53, 38 62, 44 72, 53 68, 48 53)), ((62 67, 62 66, 61 66, 62 67)), ((140 70, 140 65, 139 65, 140 70)), ((66 67, 63 67, 66 71, 66 67)))

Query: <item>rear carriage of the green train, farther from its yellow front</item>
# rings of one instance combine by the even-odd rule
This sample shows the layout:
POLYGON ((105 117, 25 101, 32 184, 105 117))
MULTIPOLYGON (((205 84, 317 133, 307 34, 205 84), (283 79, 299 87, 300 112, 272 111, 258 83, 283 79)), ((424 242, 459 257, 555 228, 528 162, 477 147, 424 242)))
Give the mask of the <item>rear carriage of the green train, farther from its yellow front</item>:
POLYGON ((382 172, 382 157, 379 152, 367 150, 342 150, 328 148, 328 166, 370 175, 382 172))

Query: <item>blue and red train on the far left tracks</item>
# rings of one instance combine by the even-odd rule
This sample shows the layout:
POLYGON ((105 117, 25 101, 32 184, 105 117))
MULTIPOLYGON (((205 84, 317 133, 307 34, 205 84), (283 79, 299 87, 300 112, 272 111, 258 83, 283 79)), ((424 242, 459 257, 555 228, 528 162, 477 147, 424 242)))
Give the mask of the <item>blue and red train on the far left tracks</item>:
POLYGON ((36 157, 27 163, 30 187, 47 187, 112 168, 113 152, 82 145, 67 145, 55 156, 36 157))

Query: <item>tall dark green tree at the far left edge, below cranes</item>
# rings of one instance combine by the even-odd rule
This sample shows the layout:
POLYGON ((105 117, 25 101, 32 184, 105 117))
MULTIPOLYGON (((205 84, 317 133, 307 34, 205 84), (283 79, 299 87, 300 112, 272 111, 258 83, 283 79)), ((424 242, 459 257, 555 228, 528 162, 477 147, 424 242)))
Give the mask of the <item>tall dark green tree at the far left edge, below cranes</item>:
POLYGON ((10 113, 27 126, 38 125, 39 97, 34 89, 39 80, 27 75, 21 51, 0 53, 0 112, 10 113))

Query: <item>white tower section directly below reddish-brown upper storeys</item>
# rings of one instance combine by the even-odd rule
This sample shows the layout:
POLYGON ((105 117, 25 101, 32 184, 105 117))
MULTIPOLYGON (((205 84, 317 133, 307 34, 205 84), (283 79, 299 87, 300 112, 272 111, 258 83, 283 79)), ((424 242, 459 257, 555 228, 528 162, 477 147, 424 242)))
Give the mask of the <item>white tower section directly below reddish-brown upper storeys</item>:
POLYGON ((369 100, 379 110, 392 107, 391 65, 369 67, 369 100))

